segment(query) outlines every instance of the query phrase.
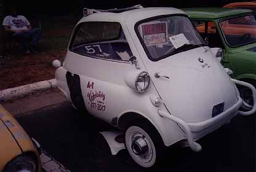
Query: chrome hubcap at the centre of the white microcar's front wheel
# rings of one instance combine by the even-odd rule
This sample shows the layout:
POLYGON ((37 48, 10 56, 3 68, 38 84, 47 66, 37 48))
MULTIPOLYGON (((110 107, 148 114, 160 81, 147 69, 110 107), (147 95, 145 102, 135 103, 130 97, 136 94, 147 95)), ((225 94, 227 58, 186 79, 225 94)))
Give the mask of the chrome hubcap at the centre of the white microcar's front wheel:
POLYGON ((145 136, 136 136, 132 141, 132 152, 136 155, 143 155, 148 152, 148 144, 145 141, 145 136))

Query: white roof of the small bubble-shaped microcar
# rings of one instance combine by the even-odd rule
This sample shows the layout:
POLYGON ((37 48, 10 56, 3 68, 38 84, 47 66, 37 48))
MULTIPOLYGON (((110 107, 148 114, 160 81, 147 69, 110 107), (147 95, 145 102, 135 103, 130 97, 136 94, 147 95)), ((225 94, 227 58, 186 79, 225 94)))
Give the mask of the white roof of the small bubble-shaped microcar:
POLYGON ((159 15, 172 15, 172 14, 183 14, 186 15, 183 10, 175 9, 171 7, 150 7, 142 9, 127 10, 120 13, 113 12, 97 12, 86 17, 82 17, 79 21, 81 22, 129 22, 135 24, 136 22, 156 17, 159 15))

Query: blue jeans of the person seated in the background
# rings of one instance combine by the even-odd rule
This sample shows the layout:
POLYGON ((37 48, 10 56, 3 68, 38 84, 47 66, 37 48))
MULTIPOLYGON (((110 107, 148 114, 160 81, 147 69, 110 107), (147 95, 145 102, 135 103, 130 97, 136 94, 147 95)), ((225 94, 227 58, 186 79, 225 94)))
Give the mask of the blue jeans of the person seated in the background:
POLYGON ((32 45, 33 48, 38 45, 40 29, 34 28, 28 31, 28 33, 14 33, 12 36, 18 39, 18 42, 24 50, 28 50, 30 45, 32 45))

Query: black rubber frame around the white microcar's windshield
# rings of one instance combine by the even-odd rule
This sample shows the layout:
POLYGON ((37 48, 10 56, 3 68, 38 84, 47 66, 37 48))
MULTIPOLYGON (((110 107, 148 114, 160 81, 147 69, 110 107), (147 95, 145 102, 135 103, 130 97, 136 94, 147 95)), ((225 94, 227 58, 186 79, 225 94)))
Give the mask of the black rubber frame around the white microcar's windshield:
MULTIPOLYGON (((154 17, 145 18, 145 19, 143 19, 143 20, 140 20, 139 22, 135 23, 135 25, 134 25, 135 33, 137 34, 137 37, 138 37, 138 39, 140 40, 140 44, 142 44, 142 47, 143 47, 143 49, 144 49, 146 55, 148 56, 148 58, 149 58, 151 61, 159 61, 159 60, 162 60, 162 59, 164 59, 164 58, 166 58, 166 57, 170 57, 170 56, 175 55, 175 54, 180 53, 180 52, 185 52, 185 51, 187 51, 187 50, 195 49, 195 48, 198 48, 198 47, 208 46, 208 45, 206 45, 206 44, 202 44, 202 45, 200 44, 200 45, 198 45, 198 46, 194 45, 194 46, 188 47, 188 48, 186 48, 186 49, 177 50, 177 51, 175 51, 175 52, 167 53, 166 55, 163 55, 162 57, 152 58, 150 52, 149 52, 148 49, 146 48, 146 45, 145 45, 145 43, 144 43, 142 37, 140 36, 140 32, 138 31, 138 25, 140 25, 140 24, 142 24, 142 23, 145 23, 145 22, 150 22, 150 21, 152 21, 152 20, 156 20, 156 19, 158 19, 158 18, 174 17, 174 16, 182 16, 182 17, 188 18, 188 20, 190 20, 191 25, 193 26, 194 31, 196 32, 197 36, 201 37, 201 35, 200 35, 199 32, 198 32, 198 29, 196 29, 196 26, 195 26, 194 23, 192 22, 191 18, 188 17, 188 15, 186 15, 186 14, 157 15, 157 16, 154 16, 154 17)), ((204 41, 204 40, 202 39, 202 41, 204 41)), ((205 42, 202 42, 202 43, 205 43, 205 42)), ((193 44, 191 44, 191 45, 193 45, 193 44)))

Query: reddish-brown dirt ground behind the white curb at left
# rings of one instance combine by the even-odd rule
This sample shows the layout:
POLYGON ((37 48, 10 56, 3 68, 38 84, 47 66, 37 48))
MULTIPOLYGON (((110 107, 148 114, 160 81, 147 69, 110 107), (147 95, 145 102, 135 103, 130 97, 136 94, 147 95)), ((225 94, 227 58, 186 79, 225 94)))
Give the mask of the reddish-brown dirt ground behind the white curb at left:
POLYGON ((0 90, 53 79, 55 68, 52 61, 62 60, 64 56, 64 50, 50 50, 38 55, 1 60, 0 90))

